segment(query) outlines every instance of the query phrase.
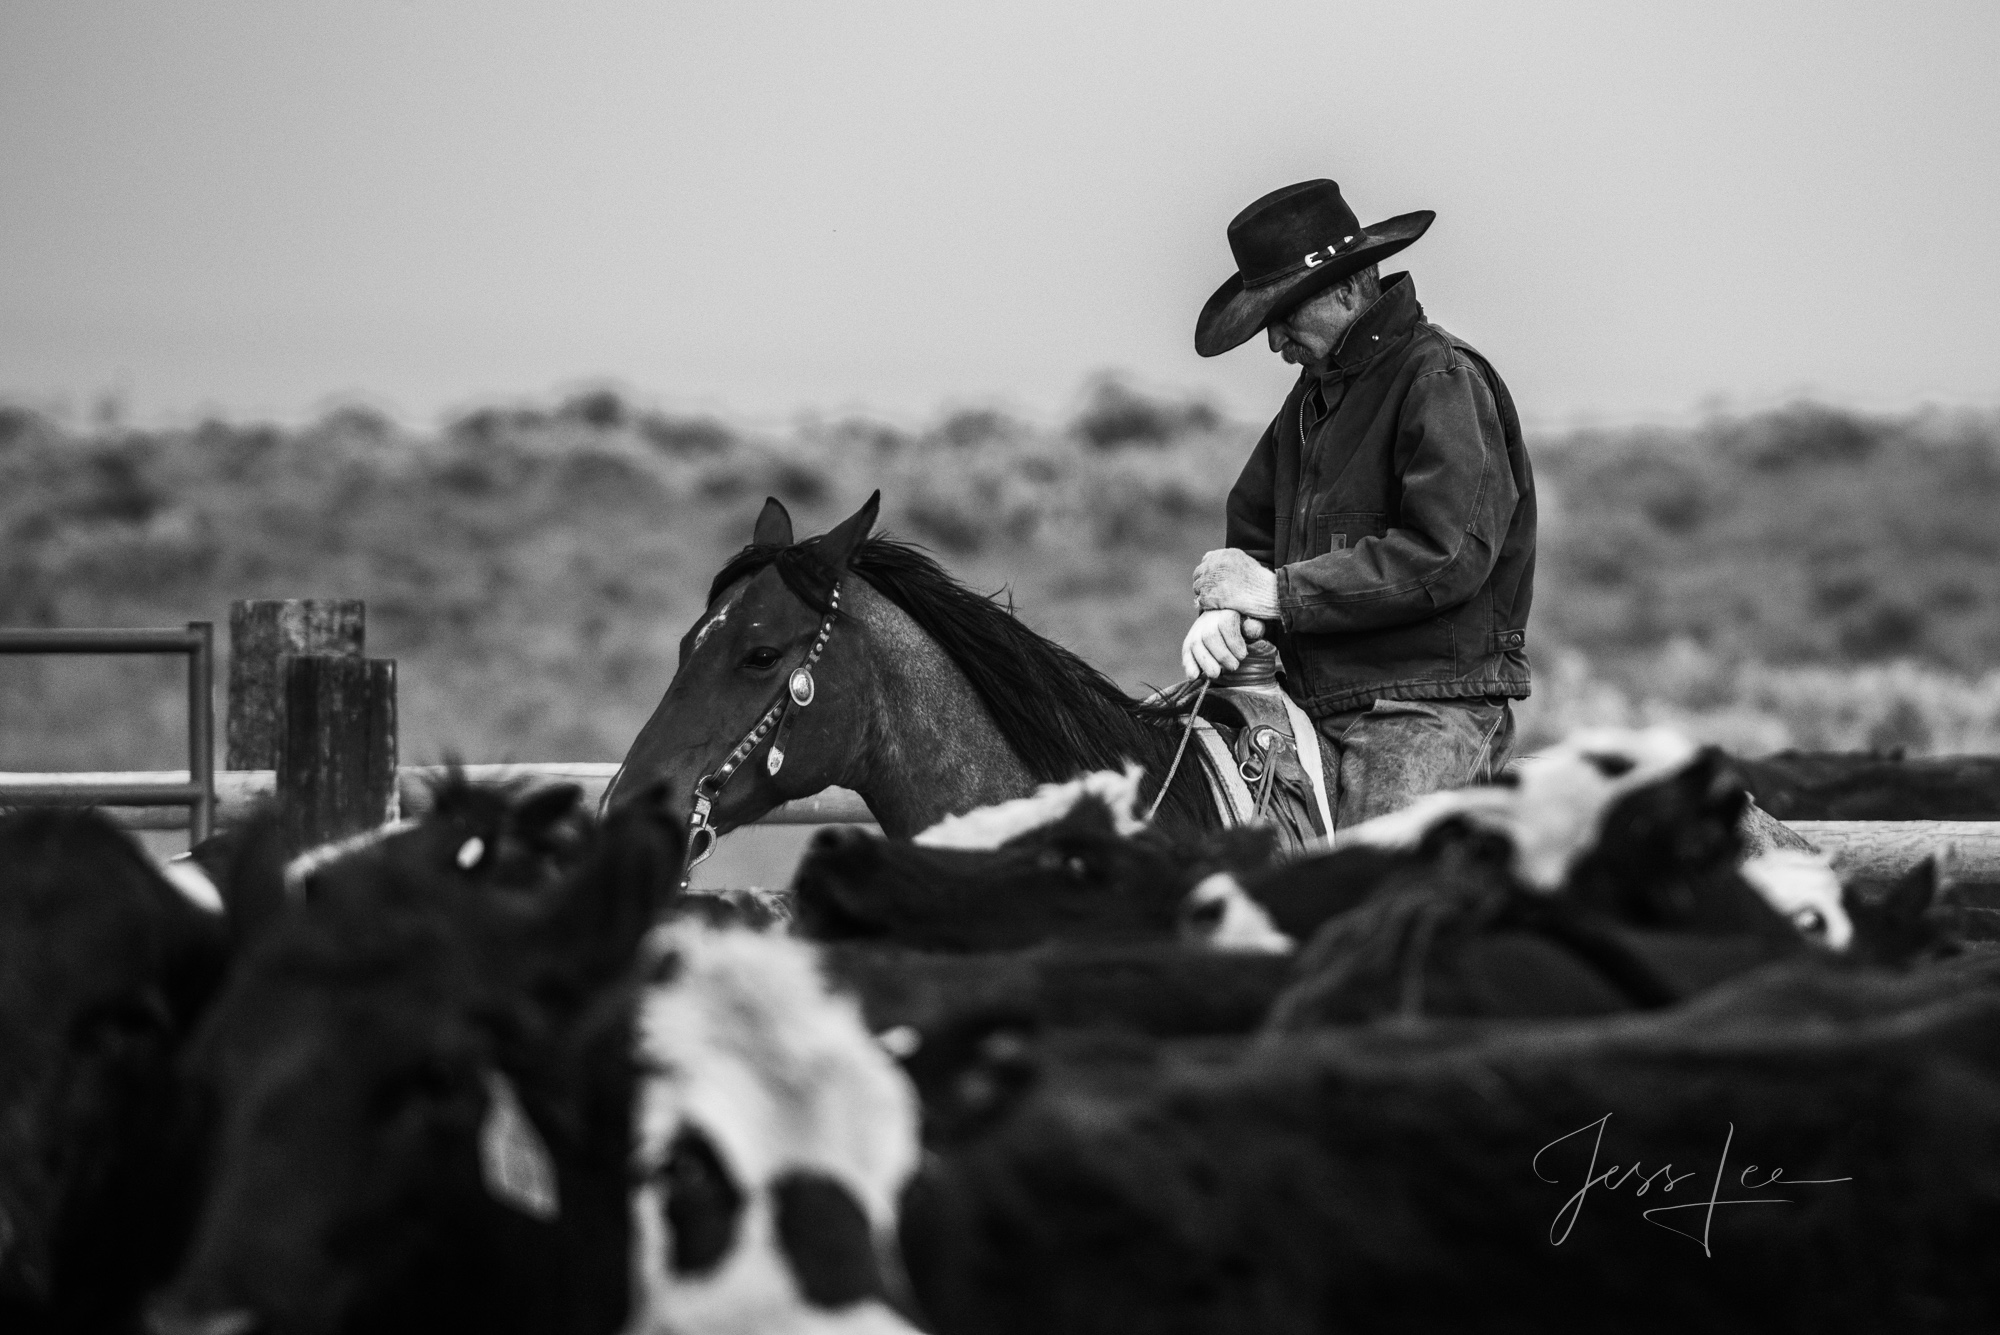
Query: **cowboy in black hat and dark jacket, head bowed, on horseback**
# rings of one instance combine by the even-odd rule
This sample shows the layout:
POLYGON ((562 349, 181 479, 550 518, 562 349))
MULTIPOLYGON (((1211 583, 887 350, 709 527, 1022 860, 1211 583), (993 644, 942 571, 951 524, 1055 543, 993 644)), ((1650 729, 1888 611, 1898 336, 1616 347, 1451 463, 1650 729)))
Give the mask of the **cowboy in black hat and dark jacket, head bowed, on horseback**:
POLYGON ((1498 771, 1528 693, 1534 476, 1506 386, 1378 262, 1430 210, 1360 226, 1330 180, 1274 190, 1228 230, 1236 274, 1194 324, 1300 368, 1194 570, 1182 668, 1234 671, 1276 644, 1314 719, 1334 825, 1498 771))

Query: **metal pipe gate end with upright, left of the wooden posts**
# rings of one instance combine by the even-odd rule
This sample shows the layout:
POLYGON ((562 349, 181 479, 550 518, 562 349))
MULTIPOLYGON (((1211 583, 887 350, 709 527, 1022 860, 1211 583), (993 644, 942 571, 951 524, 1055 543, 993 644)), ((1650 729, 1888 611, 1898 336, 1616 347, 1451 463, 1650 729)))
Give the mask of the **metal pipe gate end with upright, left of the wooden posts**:
MULTIPOLYGON (((216 829, 216 630, 0 630, 0 654, 180 654, 188 660, 186 773, 38 773, 0 779, 0 805, 186 807, 200 843, 216 829)), ((176 829, 182 825, 174 825, 176 829)))

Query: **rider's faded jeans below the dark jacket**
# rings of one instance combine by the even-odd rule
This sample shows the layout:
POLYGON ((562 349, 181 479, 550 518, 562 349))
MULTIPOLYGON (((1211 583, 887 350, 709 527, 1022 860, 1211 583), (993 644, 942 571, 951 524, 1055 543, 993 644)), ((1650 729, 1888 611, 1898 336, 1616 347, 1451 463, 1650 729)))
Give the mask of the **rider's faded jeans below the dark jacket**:
POLYGON ((1318 725, 1334 829, 1490 779, 1514 749, 1514 707, 1498 695, 1376 699, 1318 725))

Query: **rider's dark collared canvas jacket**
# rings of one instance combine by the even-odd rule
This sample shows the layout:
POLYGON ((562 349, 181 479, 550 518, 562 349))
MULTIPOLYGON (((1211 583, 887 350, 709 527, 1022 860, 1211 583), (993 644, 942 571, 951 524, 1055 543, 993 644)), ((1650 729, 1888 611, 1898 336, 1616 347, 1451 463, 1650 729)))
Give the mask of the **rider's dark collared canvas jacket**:
POLYGON ((1424 320, 1408 274, 1292 386, 1230 490, 1228 546, 1276 570, 1272 638, 1314 717, 1528 693, 1520 420, 1486 358, 1424 320))

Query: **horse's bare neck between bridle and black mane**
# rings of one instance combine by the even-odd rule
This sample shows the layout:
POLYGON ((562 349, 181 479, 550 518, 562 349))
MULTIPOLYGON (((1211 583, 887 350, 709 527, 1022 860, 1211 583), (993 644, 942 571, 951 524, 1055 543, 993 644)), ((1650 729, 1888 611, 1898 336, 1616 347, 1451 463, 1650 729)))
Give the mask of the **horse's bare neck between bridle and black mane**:
POLYGON ((1034 775, 956 664, 902 608, 860 580, 852 584, 874 701, 848 785, 882 831, 908 837, 946 815, 1034 791, 1034 775))

